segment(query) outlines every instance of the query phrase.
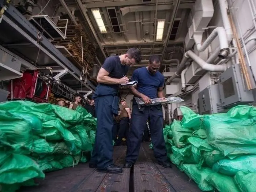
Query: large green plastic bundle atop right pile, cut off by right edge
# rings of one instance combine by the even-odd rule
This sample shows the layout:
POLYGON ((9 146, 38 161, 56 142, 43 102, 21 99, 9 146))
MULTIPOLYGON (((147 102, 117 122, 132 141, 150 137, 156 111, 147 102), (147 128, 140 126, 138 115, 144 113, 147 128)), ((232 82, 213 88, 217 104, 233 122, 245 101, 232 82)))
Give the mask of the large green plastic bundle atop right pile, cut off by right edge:
POLYGON ((255 107, 236 106, 222 116, 203 116, 208 143, 229 158, 256 154, 255 107))

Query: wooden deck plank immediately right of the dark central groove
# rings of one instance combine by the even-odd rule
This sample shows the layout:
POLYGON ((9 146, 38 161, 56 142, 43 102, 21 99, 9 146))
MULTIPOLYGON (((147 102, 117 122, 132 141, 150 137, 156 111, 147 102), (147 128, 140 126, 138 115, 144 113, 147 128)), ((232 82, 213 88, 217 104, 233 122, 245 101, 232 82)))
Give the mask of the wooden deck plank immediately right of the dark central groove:
POLYGON ((134 191, 136 192, 175 192, 143 147, 140 148, 139 158, 134 165, 133 172, 134 191))

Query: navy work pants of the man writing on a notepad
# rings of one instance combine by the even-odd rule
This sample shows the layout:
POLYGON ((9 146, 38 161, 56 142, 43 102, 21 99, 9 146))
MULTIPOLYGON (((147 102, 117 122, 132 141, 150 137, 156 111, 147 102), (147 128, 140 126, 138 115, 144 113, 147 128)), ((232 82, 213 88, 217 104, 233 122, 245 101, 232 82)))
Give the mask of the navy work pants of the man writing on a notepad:
POLYGON ((90 163, 96 164, 97 168, 106 168, 113 164, 113 96, 96 97, 94 101, 97 114, 97 130, 90 163))

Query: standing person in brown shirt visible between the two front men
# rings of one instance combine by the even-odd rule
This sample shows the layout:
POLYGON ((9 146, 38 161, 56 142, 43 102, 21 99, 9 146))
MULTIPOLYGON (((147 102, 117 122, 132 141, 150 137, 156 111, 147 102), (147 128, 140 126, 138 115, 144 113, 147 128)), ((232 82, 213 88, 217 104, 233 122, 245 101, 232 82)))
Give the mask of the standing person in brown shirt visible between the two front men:
POLYGON ((122 144, 122 139, 127 139, 127 134, 129 131, 129 124, 131 123, 131 112, 130 108, 126 104, 125 98, 120 100, 122 108, 120 112, 120 128, 118 131, 118 139, 116 145, 122 144))

